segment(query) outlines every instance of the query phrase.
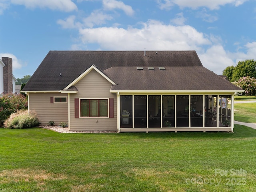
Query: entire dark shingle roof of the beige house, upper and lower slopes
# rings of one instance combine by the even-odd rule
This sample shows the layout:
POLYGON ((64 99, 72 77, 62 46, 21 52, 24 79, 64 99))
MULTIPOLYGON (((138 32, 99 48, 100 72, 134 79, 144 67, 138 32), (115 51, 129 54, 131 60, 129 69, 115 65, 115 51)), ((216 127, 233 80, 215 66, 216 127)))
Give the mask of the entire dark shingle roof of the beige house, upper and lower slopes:
MULTIPOLYGON (((109 78, 119 83, 112 89, 182 90, 186 88, 191 90, 209 88, 212 90, 220 88, 220 85, 214 85, 212 80, 210 84, 208 82, 210 78, 208 80, 205 78, 211 72, 202 66, 195 51, 146 51, 146 56, 144 56, 144 51, 50 51, 23 91, 62 90, 92 65, 105 70, 109 78), (130 68, 131 66, 133 68, 130 68), (164 66, 166 70, 138 72, 132 70, 136 69, 136 66, 164 66), (170 75, 166 75, 167 73, 170 75), (190 80, 194 83, 190 83, 190 80), (202 85, 205 82, 209 83, 207 87, 202 85)), ((221 79, 218 78, 218 80, 221 79)), ((235 89, 230 83, 223 87, 235 89)), ((222 86, 221 89, 223 89, 222 86)))

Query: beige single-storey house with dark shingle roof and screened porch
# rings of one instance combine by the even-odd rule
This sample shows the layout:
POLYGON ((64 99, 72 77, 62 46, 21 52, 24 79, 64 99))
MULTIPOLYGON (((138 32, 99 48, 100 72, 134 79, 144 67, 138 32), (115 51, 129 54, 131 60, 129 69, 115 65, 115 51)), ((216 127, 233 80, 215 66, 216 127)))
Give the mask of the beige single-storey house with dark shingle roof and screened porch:
POLYGON ((50 51, 22 89, 41 124, 118 132, 232 132, 241 91, 195 51, 50 51))

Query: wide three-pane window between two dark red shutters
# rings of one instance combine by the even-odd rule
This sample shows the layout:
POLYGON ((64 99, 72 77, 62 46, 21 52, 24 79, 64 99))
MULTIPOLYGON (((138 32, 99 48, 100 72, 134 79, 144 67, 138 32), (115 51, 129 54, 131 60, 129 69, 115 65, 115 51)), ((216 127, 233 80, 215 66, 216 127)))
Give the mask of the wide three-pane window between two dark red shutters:
POLYGON ((108 117, 108 99, 81 99, 81 117, 108 117))

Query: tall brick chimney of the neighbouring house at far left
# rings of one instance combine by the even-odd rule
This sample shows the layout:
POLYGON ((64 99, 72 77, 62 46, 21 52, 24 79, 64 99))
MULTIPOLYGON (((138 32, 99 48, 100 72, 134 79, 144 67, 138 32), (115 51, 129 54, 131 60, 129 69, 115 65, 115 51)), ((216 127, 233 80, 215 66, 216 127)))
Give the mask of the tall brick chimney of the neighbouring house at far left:
POLYGON ((12 94, 12 58, 2 57, 5 66, 4 70, 4 94, 12 94))

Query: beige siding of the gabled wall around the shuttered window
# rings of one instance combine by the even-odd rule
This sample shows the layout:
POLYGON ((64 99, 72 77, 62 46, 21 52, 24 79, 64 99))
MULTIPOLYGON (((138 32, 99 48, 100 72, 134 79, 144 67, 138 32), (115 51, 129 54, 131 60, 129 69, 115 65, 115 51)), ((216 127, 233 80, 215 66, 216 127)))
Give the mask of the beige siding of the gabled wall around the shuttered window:
POLYGON ((110 93, 112 84, 92 70, 74 86, 78 93, 70 93, 70 130, 117 130, 116 94, 110 93), (114 118, 74 118, 74 98, 114 98, 114 118))

